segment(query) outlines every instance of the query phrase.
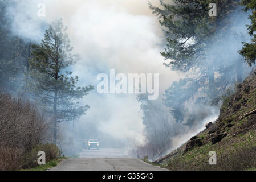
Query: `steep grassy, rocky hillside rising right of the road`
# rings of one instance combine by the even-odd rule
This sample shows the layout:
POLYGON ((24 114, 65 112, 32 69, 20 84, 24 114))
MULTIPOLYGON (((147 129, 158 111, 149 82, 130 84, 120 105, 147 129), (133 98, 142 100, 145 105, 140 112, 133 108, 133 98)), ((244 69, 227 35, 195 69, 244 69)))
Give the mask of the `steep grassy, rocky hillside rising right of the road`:
POLYGON ((256 169, 256 69, 225 97, 216 122, 177 150, 157 160, 170 170, 256 169), (209 151, 217 164, 210 165, 209 151))

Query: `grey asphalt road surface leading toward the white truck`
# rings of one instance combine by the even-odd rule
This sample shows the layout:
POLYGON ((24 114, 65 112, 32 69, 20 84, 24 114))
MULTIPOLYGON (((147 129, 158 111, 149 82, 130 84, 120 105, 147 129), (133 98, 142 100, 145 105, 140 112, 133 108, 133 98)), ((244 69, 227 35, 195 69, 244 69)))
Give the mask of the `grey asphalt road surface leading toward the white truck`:
POLYGON ((78 158, 64 159, 51 171, 162 171, 163 168, 152 166, 139 159, 125 155, 115 148, 83 150, 78 158))

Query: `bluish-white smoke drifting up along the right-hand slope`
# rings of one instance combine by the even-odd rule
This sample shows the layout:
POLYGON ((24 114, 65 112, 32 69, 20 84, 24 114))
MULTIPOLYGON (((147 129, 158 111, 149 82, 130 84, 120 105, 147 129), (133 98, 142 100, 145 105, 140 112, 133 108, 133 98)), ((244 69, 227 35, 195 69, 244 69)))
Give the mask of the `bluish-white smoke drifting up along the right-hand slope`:
MULTIPOLYGON (((247 19, 248 14, 243 12, 242 7, 238 7, 233 13, 231 13, 227 19, 229 21, 224 21, 225 23, 229 22, 229 24, 221 24, 223 28, 222 31, 217 32, 215 39, 212 42, 208 42, 208 50, 206 51, 205 60, 203 60, 203 64, 197 65, 197 69, 191 69, 188 73, 184 73, 188 78, 200 77, 208 79, 208 68, 212 68, 214 71, 214 88, 219 91, 219 93, 211 93, 209 88, 200 88, 197 89, 197 82, 192 82, 189 86, 189 89, 186 89, 188 82, 185 82, 182 85, 173 85, 170 90, 167 90, 166 97, 164 98, 166 106, 177 106, 176 114, 178 117, 182 115, 181 121, 170 122, 168 125, 171 125, 170 128, 173 130, 171 133, 165 132, 165 127, 161 127, 156 134, 151 136, 150 144, 155 142, 155 138, 157 141, 156 145, 153 146, 155 148, 152 149, 152 146, 147 146, 147 150, 152 150, 152 153, 147 153, 149 155, 149 159, 155 160, 156 156, 153 154, 156 153, 157 149, 162 148, 165 150, 166 146, 162 144, 162 146, 157 146, 157 143, 168 141, 166 138, 170 139, 170 144, 168 146, 168 150, 162 152, 158 150, 160 156, 168 154, 168 152, 180 147, 187 140, 189 140, 193 135, 196 135, 200 131, 205 129, 205 124, 208 122, 214 122, 218 118, 219 110, 221 106, 221 102, 218 104, 215 102, 210 105, 210 102, 214 101, 214 99, 220 98, 222 94, 227 91, 227 88, 234 89, 235 82, 237 81, 237 65, 242 68, 242 80, 247 77, 250 72, 250 68, 247 67, 246 63, 242 62, 241 55, 238 54, 238 50, 242 48, 242 42, 249 42, 250 37, 247 34, 246 24, 249 24, 249 20, 247 19), (220 75, 221 73, 221 75, 220 75), (180 86, 184 86, 182 90, 180 86), (203 91, 206 90, 206 92, 203 91), (199 91, 199 92, 198 92, 199 91), (200 93, 201 91, 201 93, 200 93), (169 93, 170 92, 170 93, 169 93), (214 94, 214 95, 213 95, 214 94), (185 105, 182 105, 182 98, 189 98, 186 100, 185 105), (217 104, 217 105, 216 105, 217 104), (179 113, 180 112, 180 113, 179 113), (149 149, 148 149, 149 148, 149 149)), ((218 30, 218 28, 217 28, 218 30)), ((192 60, 189 60, 192 61, 192 60)), ((189 79, 188 79, 189 80, 189 79)), ((202 82, 205 80, 201 79, 202 82)), ((140 100, 141 103, 145 103, 145 100, 140 100)), ((143 105, 142 110, 144 111, 143 119, 144 123, 147 123, 148 127, 150 127, 148 132, 149 135, 152 135, 151 127, 156 129, 156 126, 164 123, 164 119, 162 119, 159 115, 160 111, 156 110, 154 106, 157 105, 157 101, 152 101, 151 103, 146 102, 147 104, 143 105)), ((213 102, 212 102, 213 103, 213 102)), ((163 110, 164 107, 162 107, 163 110)), ((170 108, 169 108, 170 109, 170 108)), ((174 120, 174 118, 172 118, 174 120)), ((166 126, 166 123, 165 123, 166 126)), ((154 131, 154 130, 153 130, 154 131)), ((137 155, 140 155, 144 152, 145 147, 141 147, 137 149, 137 155)), ((146 152, 144 152, 146 153, 146 152)), ((136 154, 135 154, 136 156, 136 154)), ((160 156, 157 156, 159 158, 160 156)))

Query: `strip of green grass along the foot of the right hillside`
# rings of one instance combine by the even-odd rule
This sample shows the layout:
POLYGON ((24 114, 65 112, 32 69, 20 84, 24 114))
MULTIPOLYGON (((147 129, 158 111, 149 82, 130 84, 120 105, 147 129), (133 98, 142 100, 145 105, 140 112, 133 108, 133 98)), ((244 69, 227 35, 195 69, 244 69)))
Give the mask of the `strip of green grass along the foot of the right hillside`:
MULTIPOLYGON (((208 168, 205 168, 205 166, 203 165, 208 164, 209 151, 216 151, 217 159, 220 162, 219 159, 221 159, 223 156, 235 156, 232 155, 234 151, 241 151, 241 149, 243 148, 255 148, 255 135, 256 131, 253 130, 246 134, 239 134, 239 136, 237 137, 227 136, 222 139, 221 142, 218 142, 214 145, 210 142, 206 143, 203 146, 195 147, 192 150, 189 150, 184 155, 176 155, 172 160, 169 160, 167 166, 162 167, 168 168, 170 170, 207 170, 208 168)), ((235 158, 233 159, 236 160, 235 158)), ((223 166, 223 168, 224 167, 225 165, 223 166)), ((254 168, 254 166, 251 166, 251 168, 247 170, 253 171, 256 170, 256 168, 254 168)))

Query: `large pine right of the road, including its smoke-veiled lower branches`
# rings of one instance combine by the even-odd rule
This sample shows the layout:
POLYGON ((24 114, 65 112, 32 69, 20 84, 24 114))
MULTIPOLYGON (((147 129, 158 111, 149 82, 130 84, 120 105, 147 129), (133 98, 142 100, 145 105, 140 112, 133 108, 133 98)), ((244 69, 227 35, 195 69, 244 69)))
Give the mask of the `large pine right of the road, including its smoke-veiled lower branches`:
MULTIPOLYGON (((172 4, 160 0, 160 4, 161 7, 151 4, 149 7, 159 17, 165 32, 167 44, 164 52, 161 52, 169 60, 165 66, 186 75, 186 78, 174 82, 166 90, 164 104, 170 108, 176 121, 181 122, 185 115, 186 101, 196 98, 206 104, 214 100, 227 85, 214 77, 214 72, 226 74, 222 71, 225 71, 227 65, 217 67, 223 60, 218 56, 209 56, 210 47, 225 40, 225 33, 220 32, 229 31, 232 19, 226 17, 237 9, 238 4, 234 0, 176 0, 172 4), (209 17, 210 3, 217 5, 216 17, 209 17)), ((229 65, 228 69, 232 69, 232 66, 229 65)))

